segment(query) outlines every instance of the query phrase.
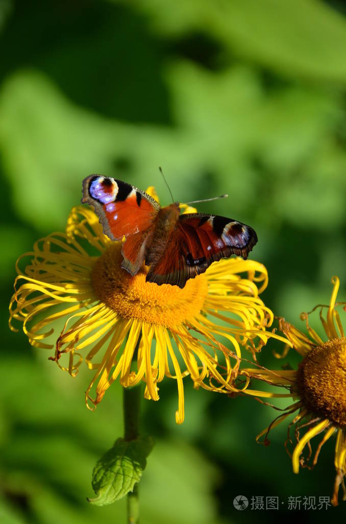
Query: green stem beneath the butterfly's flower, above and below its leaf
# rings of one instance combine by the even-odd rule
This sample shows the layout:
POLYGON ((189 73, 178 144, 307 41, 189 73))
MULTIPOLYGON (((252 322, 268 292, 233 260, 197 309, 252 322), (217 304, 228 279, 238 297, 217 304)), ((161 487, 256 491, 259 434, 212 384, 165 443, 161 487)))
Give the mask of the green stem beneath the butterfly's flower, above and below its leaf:
MULTIPOLYGON (((124 439, 135 440, 139 436, 141 386, 123 388, 124 407, 124 439)), ((140 505, 138 498, 138 484, 134 485, 133 492, 128 495, 128 524, 138 524, 140 519, 140 505)))

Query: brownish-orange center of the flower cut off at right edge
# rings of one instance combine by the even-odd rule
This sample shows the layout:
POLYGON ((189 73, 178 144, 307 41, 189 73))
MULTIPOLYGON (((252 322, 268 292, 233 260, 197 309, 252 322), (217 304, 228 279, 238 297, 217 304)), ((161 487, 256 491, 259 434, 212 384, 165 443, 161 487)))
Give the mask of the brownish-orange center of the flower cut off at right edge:
POLYGON ((299 364, 297 386, 311 412, 346 428, 346 337, 314 347, 299 364))

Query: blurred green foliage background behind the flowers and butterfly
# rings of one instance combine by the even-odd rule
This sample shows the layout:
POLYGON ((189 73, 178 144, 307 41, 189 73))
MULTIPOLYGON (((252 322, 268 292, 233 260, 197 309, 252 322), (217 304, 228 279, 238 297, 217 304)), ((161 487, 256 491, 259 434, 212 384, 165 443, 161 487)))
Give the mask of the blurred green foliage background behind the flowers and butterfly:
MULTIPOLYGON (((96 460, 122 434, 121 388, 91 413, 87 372, 72 379, 9 332, 15 260, 63 230, 89 173, 153 184, 168 204, 162 166, 179 201, 229 193, 199 209, 256 229, 251 258, 268 268, 263 299, 275 314, 301 326, 301 311, 328 302, 334 274, 345 299, 346 9, 341 0, 0 0, 0 46, 0 520, 124 522, 125 500, 86 502, 96 460)), ((270 348, 260 362, 281 365, 270 348)), ((255 442, 277 412, 195 391, 188 378, 185 391, 179 427, 174 381, 159 402, 143 401, 143 432, 156 441, 140 486, 143 524, 261 522, 278 512, 236 511, 234 497, 278 496, 284 518, 287 497, 331 493, 333 439, 297 476, 285 424, 269 447, 255 442)))

